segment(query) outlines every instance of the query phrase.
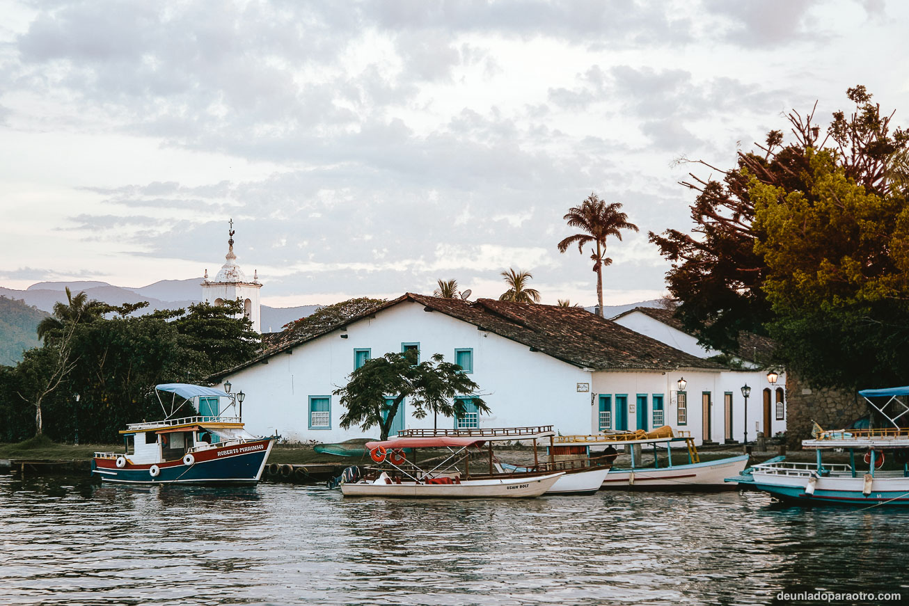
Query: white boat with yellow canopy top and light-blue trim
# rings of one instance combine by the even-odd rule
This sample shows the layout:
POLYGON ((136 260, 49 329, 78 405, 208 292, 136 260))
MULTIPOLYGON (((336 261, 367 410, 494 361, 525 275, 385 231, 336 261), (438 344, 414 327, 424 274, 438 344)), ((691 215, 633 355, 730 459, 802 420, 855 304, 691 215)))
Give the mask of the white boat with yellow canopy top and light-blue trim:
POLYGON ((631 455, 631 464, 628 467, 612 465, 603 481, 605 489, 655 489, 655 490, 699 490, 723 489, 728 487, 724 483, 730 473, 744 472, 748 463, 748 455, 742 454, 725 457, 715 461, 701 461, 694 440, 689 432, 675 433, 671 427, 664 425, 653 432, 603 432, 593 435, 560 435, 553 441, 554 454, 577 455, 586 453, 588 456, 596 452, 603 452, 605 456, 614 459, 618 456, 618 448, 631 455), (673 446, 684 445, 688 453, 688 462, 678 465, 672 460, 673 446), (653 448, 654 461, 644 465, 637 459, 635 446, 643 449, 653 448), (665 456, 661 466, 660 451, 664 449, 665 456))

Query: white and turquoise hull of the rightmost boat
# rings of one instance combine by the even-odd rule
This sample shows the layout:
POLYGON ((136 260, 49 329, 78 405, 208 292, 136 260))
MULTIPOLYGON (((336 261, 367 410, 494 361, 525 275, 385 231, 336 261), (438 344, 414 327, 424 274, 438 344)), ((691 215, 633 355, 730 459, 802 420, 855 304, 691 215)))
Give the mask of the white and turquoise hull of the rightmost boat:
POLYGON ((864 477, 820 477, 814 482, 814 493, 805 492, 808 478, 775 476, 754 472, 749 483, 755 490, 768 492, 781 501, 799 504, 874 505, 886 503, 909 506, 909 478, 874 478, 871 492, 866 496, 864 477))

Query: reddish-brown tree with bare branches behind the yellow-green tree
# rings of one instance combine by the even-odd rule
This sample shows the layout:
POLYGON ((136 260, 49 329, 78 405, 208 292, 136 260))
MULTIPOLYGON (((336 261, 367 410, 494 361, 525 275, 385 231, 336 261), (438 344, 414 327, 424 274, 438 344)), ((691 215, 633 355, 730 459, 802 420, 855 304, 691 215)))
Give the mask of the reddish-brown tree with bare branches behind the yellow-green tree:
POLYGON ((903 130, 891 131, 891 117, 882 116, 880 106, 870 103, 864 86, 850 88, 846 94, 855 104, 854 112, 849 117, 835 113, 823 139, 820 125, 814 122, 815 104, 804 116, 789 114, 794 134, 789 144, 784 144, 782 131, 773 130, 764 144, 756 144, 756 151, 739 153, 732 169, 697 161, 723 178, 704 180, 691 174, 692 181, 683 183, 698 193, 691 206, 693 233, 670 229, 649 234, 672 263, 666 280, 678 302, 676 317, 700 343, 733 353, 740 332, 766 334, 774 319, 764 291, 767 263, 764 253, 755 249, 766 238, 763 227, 754 225, 755 184, 802 192, 807 203, 814 204, 818 193, 811 183, 808 154, 829 143, 834 163, 846 179, 870 193, 905 192, 900 177, 906 174, 905 164, 900 159, 905 157, 909 137, 903 130))

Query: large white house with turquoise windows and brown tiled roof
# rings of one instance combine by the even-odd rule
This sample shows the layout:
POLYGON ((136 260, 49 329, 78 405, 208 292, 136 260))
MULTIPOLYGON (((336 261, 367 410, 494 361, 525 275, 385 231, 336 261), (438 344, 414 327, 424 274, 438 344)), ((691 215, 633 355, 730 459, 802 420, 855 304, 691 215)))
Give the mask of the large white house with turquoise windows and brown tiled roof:
POLYGON ((751 373, 729 372, 580 308, 406 293, 212 379, 229 380, 235 392, 245 392, 250 432, 277 432, 301 442, 375 437, 375 427, 366 433, 339 427, 345 410, 332 392, 366 360, 410 348, 423 359, 442 353, 460 364, 492 412, 477 415, 468 407, 456 420, 415 419, 405 401, 393 431, 435 423, 440 428, 554 425, 563 434, 586 434, 668 424, 691 432, 698 443, 704 437, 742 439, 744 422, 727 414, 724 404, 737 402, 740 396, 732 402, 725 398, 751 373))

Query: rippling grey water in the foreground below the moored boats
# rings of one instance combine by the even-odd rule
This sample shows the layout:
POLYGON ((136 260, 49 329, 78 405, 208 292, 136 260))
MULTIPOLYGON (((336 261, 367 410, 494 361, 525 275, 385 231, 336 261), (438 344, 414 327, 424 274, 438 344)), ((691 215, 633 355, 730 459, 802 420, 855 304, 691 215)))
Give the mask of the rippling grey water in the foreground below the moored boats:
POLYGON ((2 604, 765 604, 811 589, 909 598, 907 544, 909 512, 803 510, 759 493, 345 500, 279 484, 0 475, 2 604))

